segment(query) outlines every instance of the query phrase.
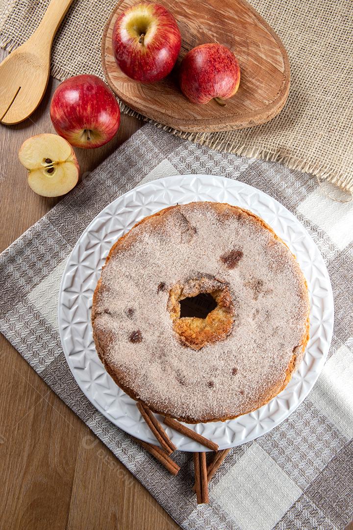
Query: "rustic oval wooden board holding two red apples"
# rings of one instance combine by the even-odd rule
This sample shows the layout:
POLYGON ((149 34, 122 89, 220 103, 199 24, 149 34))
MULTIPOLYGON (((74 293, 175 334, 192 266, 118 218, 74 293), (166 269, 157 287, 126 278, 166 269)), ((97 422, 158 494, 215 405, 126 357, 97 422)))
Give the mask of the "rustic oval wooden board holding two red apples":
POLYGON ((265 123, 284 107, 289 91, 289 61, 282 42, 245 0, 160 0, 175 16, 182 49, 164 80, 141 84, 116 65, 112 34, 117 17, 136 0, 121 0, 107 22, 102 62, 108 84, 131 109, 182 131, 223 131, 265 123), (238 57, 240 87, 221 107, 189 102, 178 86, 178 66, 186 52, 206 42, 228 46, 238 57))

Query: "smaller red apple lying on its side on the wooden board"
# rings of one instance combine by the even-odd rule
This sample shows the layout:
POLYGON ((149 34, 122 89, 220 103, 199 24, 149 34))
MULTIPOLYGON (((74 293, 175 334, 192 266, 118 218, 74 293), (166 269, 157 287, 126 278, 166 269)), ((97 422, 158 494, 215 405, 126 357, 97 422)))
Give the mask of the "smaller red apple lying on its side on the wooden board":
POLYGON ((192 103, 231 98, 239 88, 238 59, 221 44, 202 44, 190 50, 180 65, 180 89, 192 103))

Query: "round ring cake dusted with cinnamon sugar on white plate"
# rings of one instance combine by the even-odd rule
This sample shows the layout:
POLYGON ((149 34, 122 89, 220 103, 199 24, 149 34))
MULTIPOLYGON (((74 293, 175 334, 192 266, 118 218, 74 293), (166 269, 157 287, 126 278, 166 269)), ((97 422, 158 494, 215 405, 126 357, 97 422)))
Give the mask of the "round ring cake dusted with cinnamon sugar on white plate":
POLYGON ((303 273, 259 217, 191 202, 112 247, 92 307, 107 372, 133 399, 189 423, 235 418, 287 385, 309 340, 303 273))

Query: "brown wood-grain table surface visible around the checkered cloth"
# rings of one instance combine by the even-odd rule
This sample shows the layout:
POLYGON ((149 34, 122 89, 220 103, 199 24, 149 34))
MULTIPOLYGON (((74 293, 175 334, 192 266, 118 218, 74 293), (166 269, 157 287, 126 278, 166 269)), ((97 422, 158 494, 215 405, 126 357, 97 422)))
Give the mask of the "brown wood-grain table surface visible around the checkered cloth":
MULTIPOLYGON (((6 56, 0 50, 0 60, 6 56)), ((0 251, 59 199, 35 195, 17 153, 26 138, 55 132, 50 80, 37 111, 19 125, 0 125, 0 251)), ((92 171, 142 122, 122 114, 113 140, 76 149, 92 171)), ((8 530, 169 530, 179 526, 131 473, 0 335, 0 528, 8 530)))

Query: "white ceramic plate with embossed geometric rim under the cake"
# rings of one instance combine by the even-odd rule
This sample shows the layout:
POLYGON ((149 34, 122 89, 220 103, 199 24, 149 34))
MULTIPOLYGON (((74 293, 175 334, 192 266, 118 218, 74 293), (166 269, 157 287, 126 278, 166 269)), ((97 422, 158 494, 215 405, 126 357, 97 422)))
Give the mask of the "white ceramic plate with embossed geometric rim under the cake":
MULTIPOLYGON (((219 444, 233 447, 268 432, 309 394, 327 357, 333 328, 333 296, 322 256, 310 235, 284 206, 242 182, 211 175, 178 175, 143 184, 104 208, 71 252, 59 296, 59 329, 68 365, 90 402, 129 434, 156 443, 135 402, 106 373, 98 359, 90 310, 106 255, 113 243, 143 217, 191 201, 228 202, 262 217, 287 243, 304 272, 310 294, 310 341, 304 359, 285 390, 255 412, 225 422, 189 427, 219 444)), ((204 447, 167 428, 181 451, 204 447)))

